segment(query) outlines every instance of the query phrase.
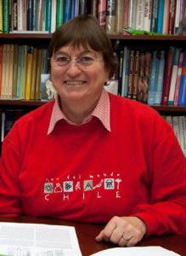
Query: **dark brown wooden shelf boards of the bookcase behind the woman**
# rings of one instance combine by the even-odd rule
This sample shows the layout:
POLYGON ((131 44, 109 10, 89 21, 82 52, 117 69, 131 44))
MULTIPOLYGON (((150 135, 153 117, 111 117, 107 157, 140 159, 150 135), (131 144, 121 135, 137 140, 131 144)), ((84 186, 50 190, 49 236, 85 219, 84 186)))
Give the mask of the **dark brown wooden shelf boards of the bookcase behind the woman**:
MULTIPOLYGON (((120 41, 120 44, 130 45, 135 47, 145 47, 148 45, 150 48, 154 47, 168 47, 170 45, 177 47, 185 47, 186 36, 174 36, 174 35, 162 35, 162 36, 150 36, 150 35, 109 35, 110 40, 113 44, 116 41, 120 41)), ((28 44, 39 45, 43 48, 48 48, 50 39, 52 38, 51 33, 0 33, 1 44, 28 44)), ((37 100, 6 100, 0 99, 0 108, 37 108, 42 106, 45 102, 37 100)), ((186 114, 186 107, 174 107, 168 105, 151 106, 155 108, 159 113, 167 114, 186 114)))

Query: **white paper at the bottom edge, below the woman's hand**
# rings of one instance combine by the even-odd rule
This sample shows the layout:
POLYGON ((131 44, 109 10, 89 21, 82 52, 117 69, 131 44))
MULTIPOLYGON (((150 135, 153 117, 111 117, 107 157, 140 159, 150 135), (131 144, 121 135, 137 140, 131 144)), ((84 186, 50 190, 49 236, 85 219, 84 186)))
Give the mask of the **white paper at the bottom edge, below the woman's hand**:
POLYGON ((181 256, 163 247, 115 247, 90 256, 181 256))

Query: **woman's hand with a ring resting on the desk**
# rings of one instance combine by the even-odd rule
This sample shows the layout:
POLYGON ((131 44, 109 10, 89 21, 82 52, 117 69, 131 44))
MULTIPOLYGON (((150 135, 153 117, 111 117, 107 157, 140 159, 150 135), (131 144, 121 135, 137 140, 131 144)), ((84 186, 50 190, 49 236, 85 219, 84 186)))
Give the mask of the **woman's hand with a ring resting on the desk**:
POLYGON ((113 217, 95 239, 132 247, 142 240, 146 232, 146 224, 138 217, 113 217))

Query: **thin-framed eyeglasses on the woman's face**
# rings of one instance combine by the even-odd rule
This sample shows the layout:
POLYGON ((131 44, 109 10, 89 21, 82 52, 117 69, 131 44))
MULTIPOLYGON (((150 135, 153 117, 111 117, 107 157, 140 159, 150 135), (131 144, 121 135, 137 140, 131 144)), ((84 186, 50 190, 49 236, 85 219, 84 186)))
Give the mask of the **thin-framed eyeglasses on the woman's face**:
POLYGON ((61 69, 64 67, 69 67, 71 61, 76 61, 76 66, 81 68, 82 70, 88 70, 96 61, 103 61, 103 60, 95 60, 93 57, 90 56, 82 56, 76 59, 70 59, 67 56, 53 56, 51 58, 51 66, 54 69, 61 69))

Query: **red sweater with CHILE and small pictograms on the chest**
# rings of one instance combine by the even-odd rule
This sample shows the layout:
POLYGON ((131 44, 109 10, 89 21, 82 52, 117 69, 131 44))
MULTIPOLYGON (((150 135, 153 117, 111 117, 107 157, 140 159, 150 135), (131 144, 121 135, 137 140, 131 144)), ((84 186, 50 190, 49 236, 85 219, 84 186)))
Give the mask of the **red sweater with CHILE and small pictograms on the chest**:
POLYGON ((110 95, 111 132, 94 117, 81 126, 59 120, 47 135, 53 106, 19 119, 3 142, 0 215, 132 215, 148 235, 186 234, 186 159, 159 113, 110 95))

